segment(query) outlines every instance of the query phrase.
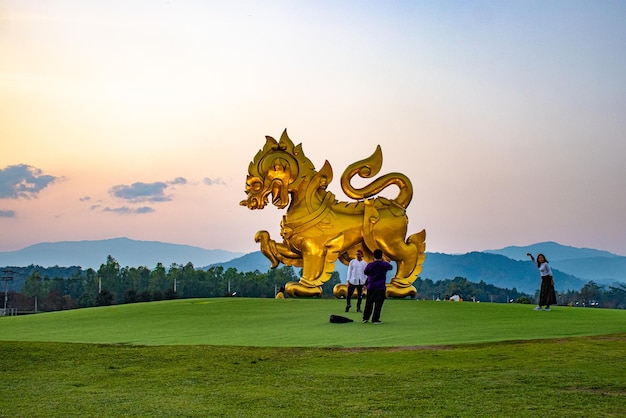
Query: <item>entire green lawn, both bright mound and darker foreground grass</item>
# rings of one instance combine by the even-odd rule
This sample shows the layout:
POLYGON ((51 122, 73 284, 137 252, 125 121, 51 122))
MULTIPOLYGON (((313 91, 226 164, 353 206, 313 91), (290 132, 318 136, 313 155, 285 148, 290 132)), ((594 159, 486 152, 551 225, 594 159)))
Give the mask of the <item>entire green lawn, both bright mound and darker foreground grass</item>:
POLYGON ((0 318, 0 416, 623 416, 626 311, 187 299, 0 318), (338 314, 355 322, 331 324, 338 314))

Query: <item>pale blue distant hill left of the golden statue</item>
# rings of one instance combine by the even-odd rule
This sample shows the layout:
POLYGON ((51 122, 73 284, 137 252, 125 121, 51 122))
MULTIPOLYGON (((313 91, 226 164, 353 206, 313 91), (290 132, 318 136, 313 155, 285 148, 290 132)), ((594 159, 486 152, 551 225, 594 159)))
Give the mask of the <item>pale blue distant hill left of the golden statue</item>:
POLYGON ((113 238, 99 241, 45 242, 17 251, 0 252, 0 266, 80 266, 98 269, 112 256, 122 267, 153 268, 157 263, 169 267, 172 263, 205 266, 227 261, 244 253, 205 250, 190 245, 158 241, 136 241, 113 238))

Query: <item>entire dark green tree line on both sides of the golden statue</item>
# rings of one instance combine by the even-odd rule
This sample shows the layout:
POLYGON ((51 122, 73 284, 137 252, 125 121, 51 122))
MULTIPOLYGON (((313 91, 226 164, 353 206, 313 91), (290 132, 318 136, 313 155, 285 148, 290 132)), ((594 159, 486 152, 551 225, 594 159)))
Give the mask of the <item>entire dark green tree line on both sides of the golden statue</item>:
MULTIPOLYGON (((3 293, 4 300, 18 312, 57 311, 124 303, 149 302, 176 298, 255 297, 273 298, 276 291, 298 277, 292 267, 239 272, 235 268, 212 266, 196 269, 192 263, 158 263, 147 267, 121 267, 111 256, 96 271, 80 267, 52 268, 53 277, 43 275, 50 269, 31 266, 19 292, 3 293), (65 274, 63 274, 65 273, 65 274), (65 277, 64 277, 65 276, 65 277)), ((323 296, 332 298, 333 287, 341 283, 339 273, 322 287, 323 296)), ((483 281, 473 283, 463 277, 433 281, 418 277, 413 283, 417 299, 444 299, 457 294, 465 301, 498 303, 535 303, 537 295, 516 289, 503 289, 483 281)), ((3 289, 4 290, 4 289, 3 289)), ((587 283, 580 291, 558 292, 559 305, 626 308, 626 286, 601 286, 587 283)))

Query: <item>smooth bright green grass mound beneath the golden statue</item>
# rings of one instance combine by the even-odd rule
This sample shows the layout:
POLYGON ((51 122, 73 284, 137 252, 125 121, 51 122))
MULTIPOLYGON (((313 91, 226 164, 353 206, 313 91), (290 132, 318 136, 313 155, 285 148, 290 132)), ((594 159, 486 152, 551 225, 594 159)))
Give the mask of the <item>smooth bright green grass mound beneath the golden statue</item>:
POLYGON ((0 340, 136 345, 397 347, 626 332, 626 311, 388 300, 380 326, 333 299, 183 299, 0 318, 0 340), (331 324, 330 314, 355 320, 331 324))

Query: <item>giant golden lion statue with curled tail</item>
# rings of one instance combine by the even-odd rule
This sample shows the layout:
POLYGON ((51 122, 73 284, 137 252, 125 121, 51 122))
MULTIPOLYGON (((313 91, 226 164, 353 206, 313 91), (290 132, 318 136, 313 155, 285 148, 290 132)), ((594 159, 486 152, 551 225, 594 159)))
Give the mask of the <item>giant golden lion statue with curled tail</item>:
MULTIPOLYGON (((426 257, 426 232, 410 235, 405 241, 406 208, 413 197, 411 181, 403 174, 390 173, 360 189, 350 184, 356 174, 362 178, 378 174, 382 161, 379 145, 369 158, 348 166, 341 176, 341 188, 355 201, 339 202, 326 190, 333 179, 328 161, 319 172, 315 171, 302 144, 294 146, 286 130, 280 141, 266 136, 265 146, 248 167, 248 198, 240 204, 263 209, 271 197, 279 209, 289 206, 281 222, 282 243, 270 239, 267 231, 258 231, 254 237, 272 268, 280 263, 302 267, 300 280, 285 284, 288 295, 321 296, 321 286, 330 279, 337 259, 348 264, 349 253, 360 249, 364 259, 371 261, 374 250, 380 248, 396 262, 387 296, 415 296, 413 282, 426 257), (390 185, 399 188, 395 199, 372 198, 390 185)), ((335 296, 345 294, 342 286, 335 287, 335 296)))

